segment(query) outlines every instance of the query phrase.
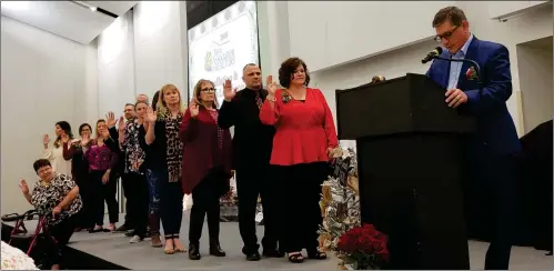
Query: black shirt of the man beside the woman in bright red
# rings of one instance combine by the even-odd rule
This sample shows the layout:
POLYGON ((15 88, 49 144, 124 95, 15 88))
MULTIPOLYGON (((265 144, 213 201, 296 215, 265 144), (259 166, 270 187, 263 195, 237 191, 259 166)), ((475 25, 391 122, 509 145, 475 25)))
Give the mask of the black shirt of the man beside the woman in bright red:
POLYGON ((255 91, 265 101, 266 90, 246 88, 238 91, 231 102, 224 101, 220 109, 218 124, 222 129, 234 126, 233 169, 270 163, 275 129, 260 121, 255 91))

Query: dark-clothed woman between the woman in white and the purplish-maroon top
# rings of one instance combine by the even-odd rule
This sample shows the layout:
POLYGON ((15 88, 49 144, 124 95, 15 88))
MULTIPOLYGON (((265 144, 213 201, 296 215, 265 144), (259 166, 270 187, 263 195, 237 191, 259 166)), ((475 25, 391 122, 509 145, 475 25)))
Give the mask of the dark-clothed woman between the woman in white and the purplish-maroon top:
POLYGON ((79 127, 79 134, 81 140, 75 140, 72 143, 63 143, 63 159, 66 161, 71 160, 71 174, 77 185, 79 187, 79 194, 81 195, 83 208, 79 214, 77 221, 75 231, 81 229, 91 230, 94 227, 93 221, 93 202, 92 200, 92 188, 89 180, 89 163, 84 158, 84 152, 92 144, 90 136, 92 134, 92 128, 89 123, 82 123, 79 127))

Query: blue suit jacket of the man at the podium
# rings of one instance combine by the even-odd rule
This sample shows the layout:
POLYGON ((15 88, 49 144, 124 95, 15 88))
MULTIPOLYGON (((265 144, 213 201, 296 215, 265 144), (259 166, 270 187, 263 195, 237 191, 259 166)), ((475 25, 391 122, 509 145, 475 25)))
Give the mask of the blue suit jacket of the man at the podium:
MULTIPOLYGON (((447 50, 441 57, 450 58, 447 50)), ((467 102, 459 107, 461 113, 475 116, 477 132, 469 138, 467 151, 472 158, 494 158, 516 153, 520 139, 506 101, 512 96, 512 74, 507 48, 473 37, 465 59, 481 67, 482 94, 477 80, 470 80, 465 72, 471 67, 463 63, 457 88, 467 94, 467 102)), ((449 86, 450 61, 433 60, 427 77, 443 88, 449 86)))

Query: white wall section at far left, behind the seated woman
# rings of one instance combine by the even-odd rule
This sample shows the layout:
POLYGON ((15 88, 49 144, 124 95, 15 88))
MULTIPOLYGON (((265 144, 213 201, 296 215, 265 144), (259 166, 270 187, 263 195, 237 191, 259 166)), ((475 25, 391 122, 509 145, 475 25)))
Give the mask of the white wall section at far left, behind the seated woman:
POLYGON ((1 28, 1 211, 8 213, 31 209, 18 183, 37 180, 32 162, 42 154, 42 134, 53 139, 60 120, 77 133, 95 113, 94 101, 88 103, 95 96, 95 48, 3 16, 1 28))

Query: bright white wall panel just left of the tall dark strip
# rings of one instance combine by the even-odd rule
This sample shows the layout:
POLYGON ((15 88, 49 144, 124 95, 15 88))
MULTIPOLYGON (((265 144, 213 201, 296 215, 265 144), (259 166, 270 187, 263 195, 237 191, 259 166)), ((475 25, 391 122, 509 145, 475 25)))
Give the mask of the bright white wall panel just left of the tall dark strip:
POLYGON ((135 6, 134 70, 138 93, 151 98, 163 84, 173 83, 187 99, 188 73, 183 69, 188 62, 187 54, 183 54, 188 50, 187 37, 181 42, 181 29, 187 30, 187 24, 180 26, 181 7, 184 2, 142 1, 135 6))

